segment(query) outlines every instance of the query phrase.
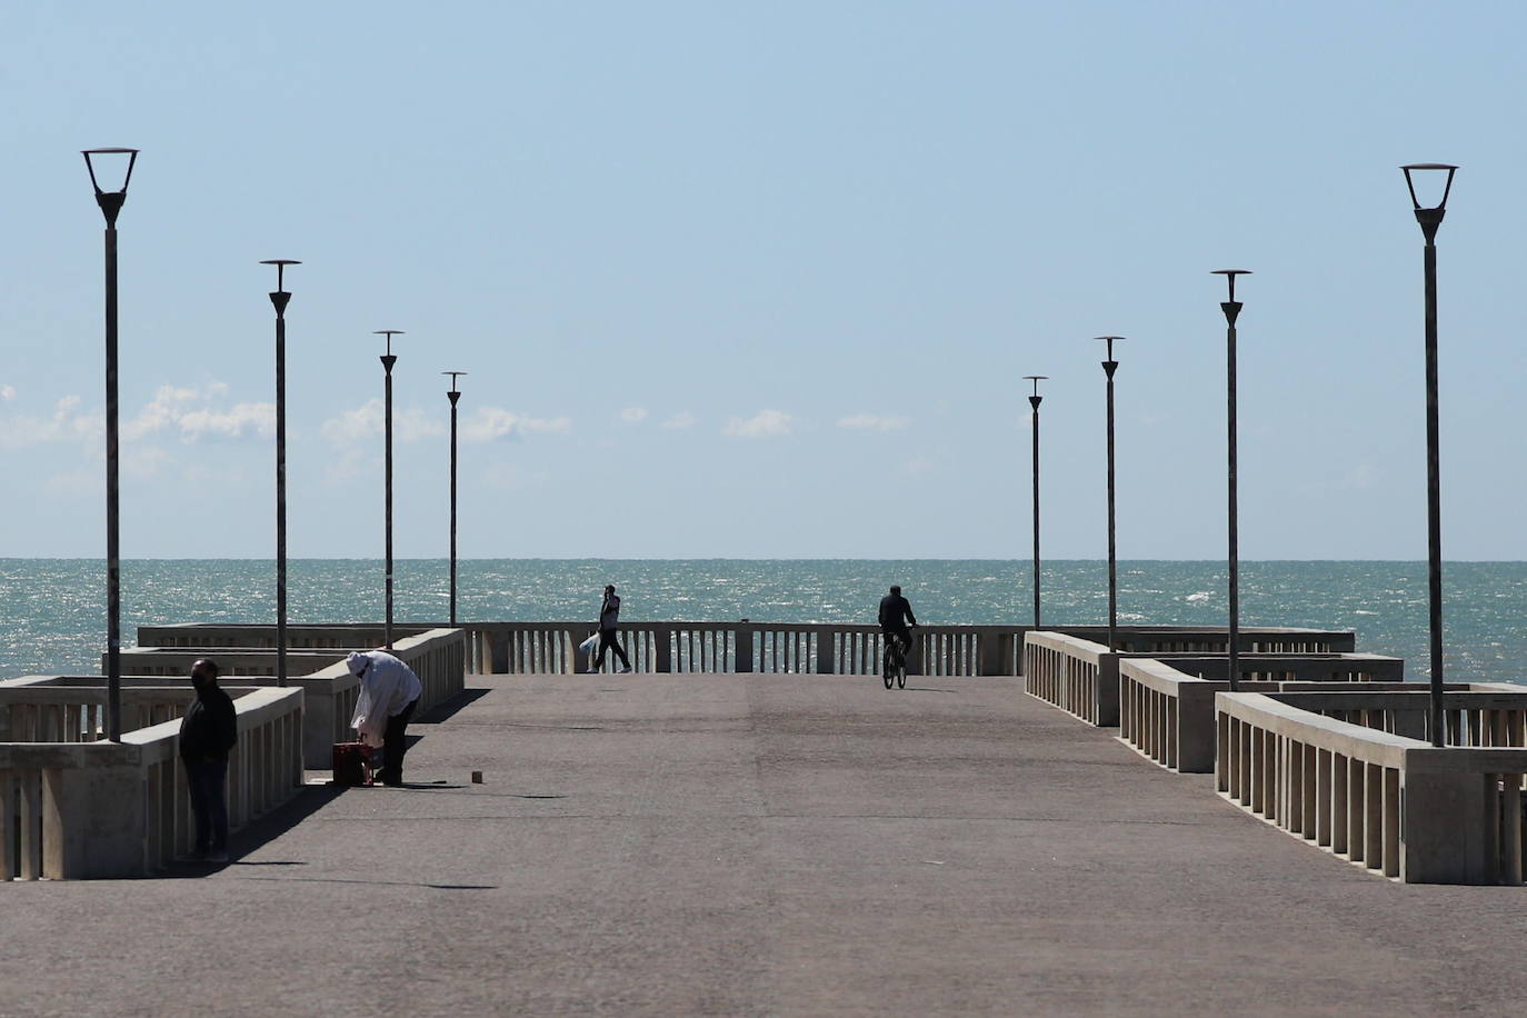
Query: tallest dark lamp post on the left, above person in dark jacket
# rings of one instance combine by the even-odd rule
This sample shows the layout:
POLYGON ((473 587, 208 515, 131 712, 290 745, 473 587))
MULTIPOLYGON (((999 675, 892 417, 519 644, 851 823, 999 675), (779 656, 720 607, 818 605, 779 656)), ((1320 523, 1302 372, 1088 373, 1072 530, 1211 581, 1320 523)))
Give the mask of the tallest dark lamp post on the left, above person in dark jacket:
POLYGON ((122 740, 122 546, 121 520, 118 516, 119 452, 118 452, 118 401, 116 401, 116 217, 127 201, 127 185, 133 179, 137 162, 136 148, 86 148, 86 169, 90 186, 96 192, 96 205, 105 217, 105 658, 107 693, 105 717, 107 739, 122 740), (96 160, 101 169, 121 166, 127 156, 122 186, 102 191, 96 177, 96 160))

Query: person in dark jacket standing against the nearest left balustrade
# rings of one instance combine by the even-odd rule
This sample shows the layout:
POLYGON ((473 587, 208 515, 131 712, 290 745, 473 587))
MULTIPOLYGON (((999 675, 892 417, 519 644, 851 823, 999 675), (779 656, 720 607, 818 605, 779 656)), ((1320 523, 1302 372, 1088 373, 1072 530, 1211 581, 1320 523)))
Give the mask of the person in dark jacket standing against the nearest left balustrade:
POLYGON ((195 702, 180 719, 180 762, 195 813, 195 856, 228 862, 228 752, 238 742, 234 701, 217 684, 217 662, 191 665, 195 702))

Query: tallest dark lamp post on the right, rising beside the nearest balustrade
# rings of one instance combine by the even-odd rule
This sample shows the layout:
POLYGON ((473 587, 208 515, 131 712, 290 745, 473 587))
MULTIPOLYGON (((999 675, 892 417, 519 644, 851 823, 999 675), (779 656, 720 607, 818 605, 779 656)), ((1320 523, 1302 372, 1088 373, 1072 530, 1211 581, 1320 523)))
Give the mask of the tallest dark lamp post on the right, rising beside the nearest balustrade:
POLYGON ((1411 163, 1400 169, 1405 171, 1405 186, 1411 192, 1416 221, 1420 223, 1422 237, 1426 238, 1422 263, 1426 275, 1426 588, 1431 617, 1431 730, 1432 745, 1440 746, 1445 733, 1441 730, 1441 466, 1437 432, 1437 227, 1441 226, 1448 192, 1452 191, 1452 174, 1458 168, 1448 163, 1411 163), (1448 174, 1441 198, 1437 205, 1423 208, 1416 197, 1416 174, 1425 174, 1423 180, 1435 182, 1441 172, 1448 174))

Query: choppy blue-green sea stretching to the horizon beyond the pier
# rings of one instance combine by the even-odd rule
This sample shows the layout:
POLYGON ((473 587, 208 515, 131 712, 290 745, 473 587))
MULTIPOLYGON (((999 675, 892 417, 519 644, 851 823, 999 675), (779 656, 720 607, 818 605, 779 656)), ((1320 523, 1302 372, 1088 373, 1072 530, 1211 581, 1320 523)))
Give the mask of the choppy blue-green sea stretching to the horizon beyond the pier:
MULTIPOLYGON (((394 618, 443 621, 443 559, 395 565, 394 618)), ((1003 560, 467 560, 458 563, 458 618, 589 620, 605 583, 626 620, 872 623, 899 583, 918 621, 1026 623, 1032 568, 1003 560)), ((1225 624, 1225 563, 1121 562, 1121 624, 1225 624)), ((1527 563, 1457 562, 1443 568, 1446 675, 1451 681, 1527 682, 1527 563)), ((1107 621, 1107 565, 1052 562, 1043 574, 1043 621, 1107 621)), ((292 623, 379 621, 380 560, 304 559, 289 565, 292 623)), ((127 560, 124 644, 137 626, 273 623, 270 560, 127 560)), ((1243 626, 1353 629, 1358 649, 1428 670, 1426 563, 1245 562, 1243 626)), ((105 649, 105 563, 0 559, 0 678, 95 673, 105 649)))

